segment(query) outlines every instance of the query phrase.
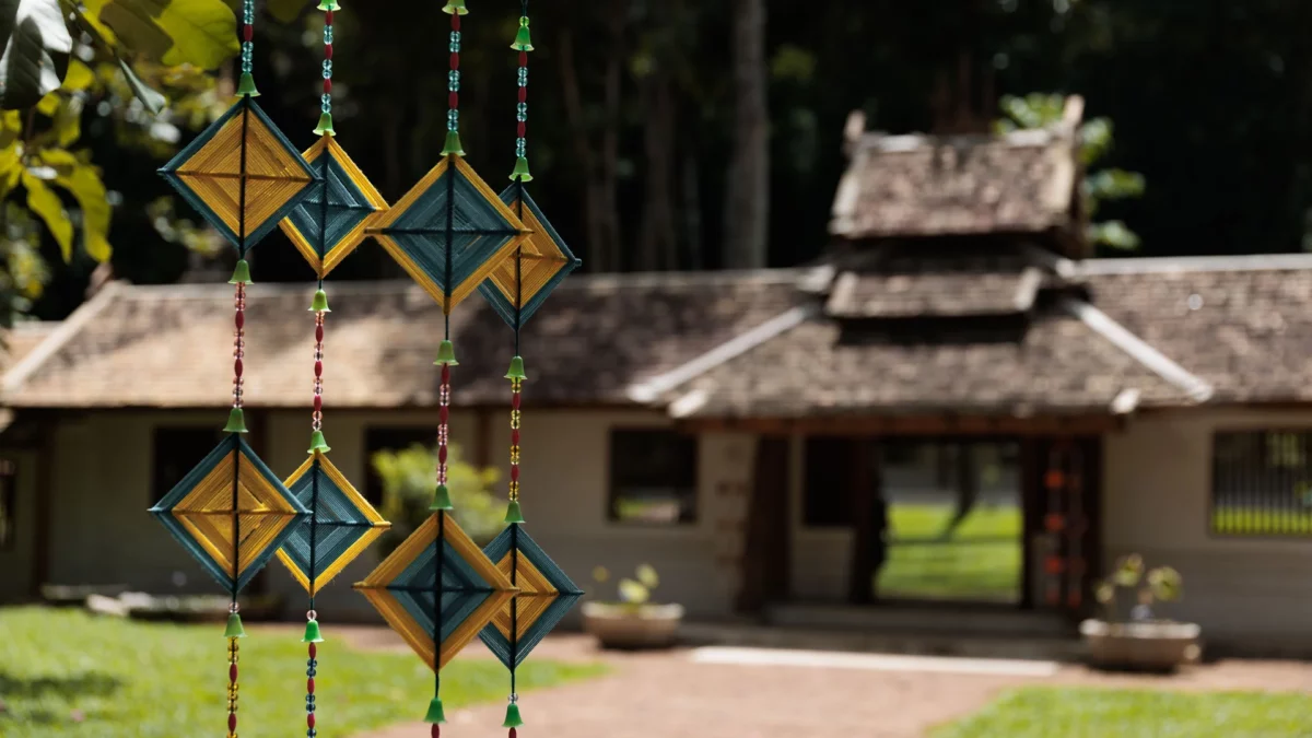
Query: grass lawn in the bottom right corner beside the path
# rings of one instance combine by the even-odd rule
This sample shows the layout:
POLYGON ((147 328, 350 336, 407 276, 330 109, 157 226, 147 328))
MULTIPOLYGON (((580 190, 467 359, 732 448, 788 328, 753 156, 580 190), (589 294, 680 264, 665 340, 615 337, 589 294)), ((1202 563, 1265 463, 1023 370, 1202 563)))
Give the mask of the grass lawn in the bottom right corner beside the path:
POLYGON ((1004 696, 933 738, 1296 738, 1312 696, 1034 687, 1004 696))

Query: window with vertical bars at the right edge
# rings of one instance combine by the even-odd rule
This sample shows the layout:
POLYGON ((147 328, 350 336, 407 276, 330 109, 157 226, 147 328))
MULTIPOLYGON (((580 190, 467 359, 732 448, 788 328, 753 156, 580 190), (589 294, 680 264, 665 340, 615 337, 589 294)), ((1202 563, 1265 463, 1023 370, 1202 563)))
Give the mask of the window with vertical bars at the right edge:
POLYGON ((1211 529, 1312 536, 1312 431, 1216 433, 1211 529))

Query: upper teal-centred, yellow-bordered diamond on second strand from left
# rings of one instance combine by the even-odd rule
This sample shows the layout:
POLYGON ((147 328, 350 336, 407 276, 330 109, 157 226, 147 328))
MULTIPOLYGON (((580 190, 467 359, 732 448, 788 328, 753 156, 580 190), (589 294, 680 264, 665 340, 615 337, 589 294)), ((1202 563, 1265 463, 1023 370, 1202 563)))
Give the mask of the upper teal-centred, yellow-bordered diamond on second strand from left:
POLYGON ((321 181, 279 226, 319 277, 325 277, 365 240, 365 227, 375 213, 387 210, 387 201, 333 137, 320 137, 303 156, 321 181))

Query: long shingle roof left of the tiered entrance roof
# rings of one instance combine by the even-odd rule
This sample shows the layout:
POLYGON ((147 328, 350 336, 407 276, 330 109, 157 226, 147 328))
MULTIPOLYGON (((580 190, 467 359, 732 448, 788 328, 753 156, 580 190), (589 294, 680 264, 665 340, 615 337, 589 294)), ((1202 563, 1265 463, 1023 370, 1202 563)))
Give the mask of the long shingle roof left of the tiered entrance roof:
MULTIPOLYGON (((792 272, 588 277, 565 282, 523 331, 526 391, 539 403, 628 403, 626 387, 786 311, 792 272)), ((252 285, 245 401, 299 407, 311 390, 312 286, 252 285)), ((441 310, 408 282, 328 286, 325 399, 333 407, 432 406, 441 310)), ((228 285, 114 284, 60 343, 5 377, 14 407, 216 407, 228 403, 228 285)), ((454 403, 504 403, 512 337, 482 301, 453 314, 454 403)), ((58 336, 56 336, 58 337, 58 336)))

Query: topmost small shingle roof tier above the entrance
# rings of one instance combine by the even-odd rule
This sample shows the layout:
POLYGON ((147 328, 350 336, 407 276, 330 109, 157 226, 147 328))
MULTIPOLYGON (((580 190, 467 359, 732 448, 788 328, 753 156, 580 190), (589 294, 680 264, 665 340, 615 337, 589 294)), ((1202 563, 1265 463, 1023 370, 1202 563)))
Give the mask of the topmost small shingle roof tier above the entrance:
POLYGON ((1038 234, 1073 228, 1075 138, 865 134, 838 184, 830 234, 845 239, 1038 234))

